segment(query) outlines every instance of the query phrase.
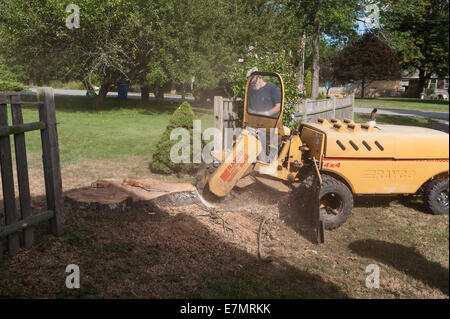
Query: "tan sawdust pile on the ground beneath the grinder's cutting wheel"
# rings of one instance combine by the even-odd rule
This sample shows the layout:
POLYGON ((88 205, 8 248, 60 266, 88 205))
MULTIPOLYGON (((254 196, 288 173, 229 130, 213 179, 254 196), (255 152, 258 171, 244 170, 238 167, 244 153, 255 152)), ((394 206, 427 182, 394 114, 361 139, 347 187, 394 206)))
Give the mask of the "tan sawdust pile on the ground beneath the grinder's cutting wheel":
POLYGON ((215 207, 206 207, 199 201, 178 206, 158 205, 158 209, 179 216, 175 223, 167 225, 171 240, 191 236, 192 229, 183 224, 182 216, 194 217, 228 244, 252 255, 258 255, 259 251, 266 261, 274 261, 300 254, 315 243, 315 233, 302 222, 302 211, 296 201, 292 194, 253 185, 233 191, 215 207), (263 220, 264 227, 260 232, 263 220))

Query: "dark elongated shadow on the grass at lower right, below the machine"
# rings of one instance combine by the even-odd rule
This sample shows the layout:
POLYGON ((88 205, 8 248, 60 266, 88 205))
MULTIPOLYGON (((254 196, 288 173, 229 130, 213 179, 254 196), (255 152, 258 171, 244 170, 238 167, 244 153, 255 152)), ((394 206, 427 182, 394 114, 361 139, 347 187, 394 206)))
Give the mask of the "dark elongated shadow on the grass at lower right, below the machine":
POLYGON ((392 266, 405 274, 449 294, 449 271, 439 263, 427 260, 414 247, 381 240, 359 240, 349 249, 361 257, 371 258, 392 266))

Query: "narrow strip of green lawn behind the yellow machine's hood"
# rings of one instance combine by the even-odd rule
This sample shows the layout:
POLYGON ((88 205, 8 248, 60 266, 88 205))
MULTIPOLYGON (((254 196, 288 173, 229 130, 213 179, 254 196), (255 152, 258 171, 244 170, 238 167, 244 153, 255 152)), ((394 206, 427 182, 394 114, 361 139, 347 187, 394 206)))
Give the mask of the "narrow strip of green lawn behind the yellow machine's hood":
POLYGON ((355 99, 356 107, 448 112, 448 101, 421 100, 414 98, 383 97, 376 99, 355 99))

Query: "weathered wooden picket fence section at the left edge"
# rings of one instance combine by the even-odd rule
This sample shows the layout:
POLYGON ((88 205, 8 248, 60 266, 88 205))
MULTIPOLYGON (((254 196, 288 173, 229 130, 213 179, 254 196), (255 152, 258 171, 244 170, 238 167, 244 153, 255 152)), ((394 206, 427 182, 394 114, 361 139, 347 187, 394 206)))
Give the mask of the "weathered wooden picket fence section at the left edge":
POLYGON ((4 248, 7 248, 9 256, 17 254, 20 247, 29 248, 34 243, 33 226, 43 221, 49 221, 50 231, 54 235, 61 236, 63 234, 64 202, 55 100, 51 88, 40 89, 36 102, 22 101, 21 95, 18 93, 0 92, 0 154, 4 207, 4 218, 0 218, 0 259, 2 259, 4 248), (11 107, 12 125, 8 121, 8 105, 11 107), (39 121, 23 123, 22 105, 37 106, 39 121), (25 146, 25 133, 35 130, 41 131, 47 200, 47 210, 37 214, 32 211, 25 146), (15 196, 10 136, 13 136, 14 139, 19 210, 15 196))

